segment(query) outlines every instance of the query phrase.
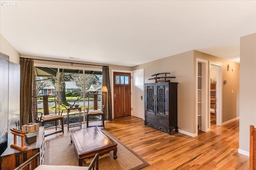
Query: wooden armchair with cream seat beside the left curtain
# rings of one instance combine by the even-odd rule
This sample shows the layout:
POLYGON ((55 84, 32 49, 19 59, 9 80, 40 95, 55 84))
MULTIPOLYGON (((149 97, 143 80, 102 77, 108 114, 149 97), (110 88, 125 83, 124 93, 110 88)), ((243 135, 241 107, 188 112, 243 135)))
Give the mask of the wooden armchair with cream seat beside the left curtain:
MULTIPOLYGON (((49 136, 49 135, 53 135, 55 133, 64 133, 64 122, 63 122, 63 116, 62 116, 62 113, 63 113, 63 110, 62 109, 58 109, 56 108, 56 95, 42 95, 42 96, 32 96, 33 98, 43 98, 43 111, 38 111, 38 106, 36 107, 37 111, 36 111, 36 123, 40 122, 42 123, 42 126, 44 126, 45 123, 48 123, 48 122, 54 122, 55 123, 55 132, 53 133, 50 133, 50 134, 46 134, 44 135, 45 137, 49 136), (49 101, 48 99, 49 98, 54 98, 54 112, 53 113, 50 113, 49 112, 49 101), (57 110, 58 111, 58 114, 57 114, 57 110), (40 114, 40 116, 39 116, 40 114), (57 126, 57 121, 60 120, 61 121, 61 127, 58 127, 57 126), (57 127, 58 128, 61 128, 60 131, 57 131, 57 127)), ((50 126, 52 127, 52 126, 50 126)))

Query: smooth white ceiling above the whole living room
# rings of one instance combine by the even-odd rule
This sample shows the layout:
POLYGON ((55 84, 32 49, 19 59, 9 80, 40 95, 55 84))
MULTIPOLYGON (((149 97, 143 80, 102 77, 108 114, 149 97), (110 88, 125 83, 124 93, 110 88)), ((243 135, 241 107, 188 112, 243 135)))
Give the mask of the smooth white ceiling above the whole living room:
POLYGON ((194 49, 239 63, 256 33, 255 0, 17 2, 1 0, 0 33, 24 55, 136 66, 194 49))

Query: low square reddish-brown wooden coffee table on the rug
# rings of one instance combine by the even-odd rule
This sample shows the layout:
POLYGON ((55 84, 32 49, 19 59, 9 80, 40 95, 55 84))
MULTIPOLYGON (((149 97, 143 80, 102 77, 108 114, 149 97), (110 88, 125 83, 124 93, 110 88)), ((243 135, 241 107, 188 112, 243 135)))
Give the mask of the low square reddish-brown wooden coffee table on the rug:
POLYGON ((117 143, 110 139, 98 127, 78 129, 70 133, 71 143, 74 144, 78 155, 79 166, 85 158, 92 158, 96 153, 100 155, 114 151, 114 159, 117 158, 117 143))

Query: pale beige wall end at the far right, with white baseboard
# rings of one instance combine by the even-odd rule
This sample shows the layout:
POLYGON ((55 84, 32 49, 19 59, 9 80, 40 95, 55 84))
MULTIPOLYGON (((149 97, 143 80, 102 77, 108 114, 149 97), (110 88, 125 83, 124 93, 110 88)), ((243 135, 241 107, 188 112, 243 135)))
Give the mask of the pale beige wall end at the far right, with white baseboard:
POLYGON ((256 126, 256 33, 240 37, 239 150, 248 156, 250 125, 256 126))

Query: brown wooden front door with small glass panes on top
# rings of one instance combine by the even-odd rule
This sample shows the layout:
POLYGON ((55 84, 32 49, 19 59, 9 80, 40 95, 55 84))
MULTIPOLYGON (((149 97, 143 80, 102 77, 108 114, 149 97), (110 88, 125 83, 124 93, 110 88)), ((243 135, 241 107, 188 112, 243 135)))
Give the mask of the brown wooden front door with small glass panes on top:
POLYGON ((114 118, 131 115, 131 74, 114 72, 114 118))

